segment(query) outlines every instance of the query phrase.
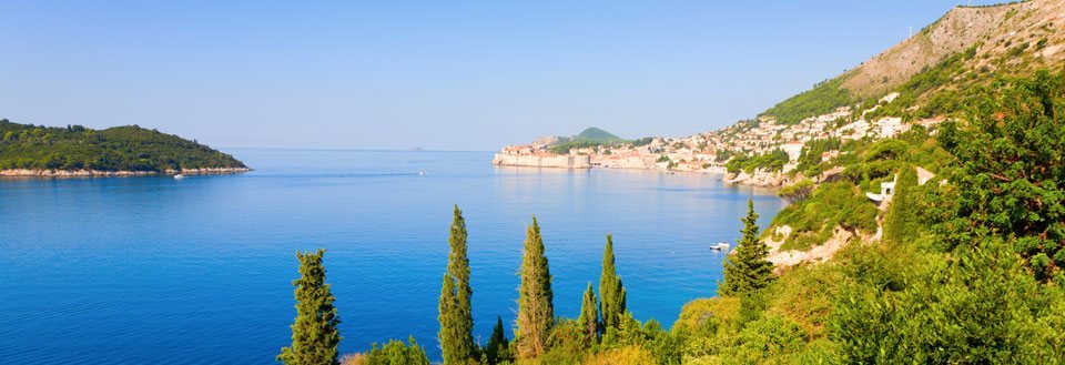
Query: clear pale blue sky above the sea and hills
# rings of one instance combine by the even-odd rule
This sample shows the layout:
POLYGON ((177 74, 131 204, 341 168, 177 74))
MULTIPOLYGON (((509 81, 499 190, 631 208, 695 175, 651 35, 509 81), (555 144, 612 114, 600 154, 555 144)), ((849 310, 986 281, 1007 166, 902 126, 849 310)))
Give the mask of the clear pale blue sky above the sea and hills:
POLYGON ((490 151, 586 126, 684 136, 754 116, 957 3, 0 0, 0 118, 138 124, 222 149, 490 151))

